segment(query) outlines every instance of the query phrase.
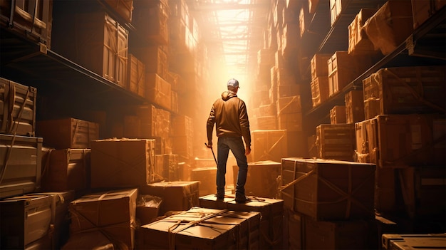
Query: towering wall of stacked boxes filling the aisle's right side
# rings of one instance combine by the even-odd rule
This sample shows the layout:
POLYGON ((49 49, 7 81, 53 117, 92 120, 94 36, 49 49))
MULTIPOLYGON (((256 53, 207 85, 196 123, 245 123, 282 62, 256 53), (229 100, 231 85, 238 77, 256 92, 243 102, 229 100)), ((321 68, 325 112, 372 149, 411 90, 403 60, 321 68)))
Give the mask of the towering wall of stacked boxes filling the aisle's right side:
POLYGON ((290 249, 379 249, 385 231, 444 231, 444 55, 432 63, 398 59, 413 34, 444 6, 445 1, 272 1, 258 53, 261 98, 250 103, 253 160, 281 160, 279 191, 290 249), (329 165, 342 175, 343 167, 355 164, 364 171, 375 166, 368 169, 371 182, 353 172, 339 179, 368 183, 373 198, 367 202, 354 197, 355 184, 347 191, 321 176, 337 179, 328 174, 329 165), (318 199, 323 188, 330 190, 329 200, 318 199), (337 218, 318 216, 336 213, 346 200, 368 204, 368 212, 351 217, 352 203, 337 218), (374 236, 364 238, 363 231, 374 236))

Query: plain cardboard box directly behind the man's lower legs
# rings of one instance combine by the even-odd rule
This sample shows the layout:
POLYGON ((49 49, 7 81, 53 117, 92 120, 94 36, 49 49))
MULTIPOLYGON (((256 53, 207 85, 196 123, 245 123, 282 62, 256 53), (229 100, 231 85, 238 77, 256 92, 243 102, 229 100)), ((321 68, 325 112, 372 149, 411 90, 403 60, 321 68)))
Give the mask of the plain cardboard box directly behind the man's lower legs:
MULTIPOLYGON (((276 199, 279 197, 280 162, 271 160, 248 163, 247 182, 244 185, 245 193, 249 196, 276 199)), ((239 167, 232 166, 234 187, 237 185, 239 167)))

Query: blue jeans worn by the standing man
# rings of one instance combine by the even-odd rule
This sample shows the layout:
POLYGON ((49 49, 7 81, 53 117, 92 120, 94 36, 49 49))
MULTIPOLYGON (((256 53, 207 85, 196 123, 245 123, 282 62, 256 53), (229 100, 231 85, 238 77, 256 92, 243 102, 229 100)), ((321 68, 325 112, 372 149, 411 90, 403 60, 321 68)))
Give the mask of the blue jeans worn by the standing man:
POLYGON ((247 156, 244 155, 244 144, 242 137, 218 137, 217 142, 217 193, 224 194, 224 186, 226 185, 226 164, 228 160, 229 150, 237 160, 239 173, 237 175, 237 186, 235 193, 237 196, 244 195, 244 184, 247 182, 248 162, 247 156))

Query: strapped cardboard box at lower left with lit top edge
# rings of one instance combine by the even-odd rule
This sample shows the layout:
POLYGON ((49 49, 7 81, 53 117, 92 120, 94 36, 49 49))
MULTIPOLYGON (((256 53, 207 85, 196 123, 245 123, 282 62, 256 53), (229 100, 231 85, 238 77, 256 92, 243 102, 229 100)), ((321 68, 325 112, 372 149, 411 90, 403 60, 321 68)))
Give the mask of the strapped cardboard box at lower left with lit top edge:
POLYGON ((74 200, 69 207, 71 235, 98 230, 108 239, 133 249, 137 197, 138 189, 118 189, 74 200))

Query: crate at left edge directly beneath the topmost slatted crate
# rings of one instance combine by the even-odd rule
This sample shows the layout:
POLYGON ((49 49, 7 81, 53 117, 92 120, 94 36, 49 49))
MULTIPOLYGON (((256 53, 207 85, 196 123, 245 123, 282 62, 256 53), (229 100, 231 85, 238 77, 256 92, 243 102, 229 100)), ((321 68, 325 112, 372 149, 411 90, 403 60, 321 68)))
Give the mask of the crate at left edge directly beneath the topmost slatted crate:
POLYGON ((3 169, 0 198, 40 189, 42 141, 41 137, 0 134, 0 162, 3 169))

